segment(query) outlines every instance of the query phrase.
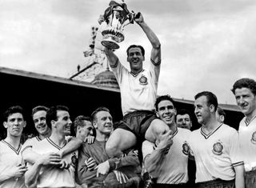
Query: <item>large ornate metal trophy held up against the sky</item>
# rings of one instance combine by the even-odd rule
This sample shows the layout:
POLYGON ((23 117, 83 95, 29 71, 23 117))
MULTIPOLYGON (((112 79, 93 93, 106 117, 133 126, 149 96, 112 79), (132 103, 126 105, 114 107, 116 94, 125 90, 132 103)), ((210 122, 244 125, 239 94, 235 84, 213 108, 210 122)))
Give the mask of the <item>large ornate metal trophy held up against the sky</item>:
POLYGON ((102 30, 102 46, 109 49, 118 49, 119 42, 125 38, 123 29, 130 23, 134 23, 134 14, 127 10, 126 3, 111 1, 104 15, 99 19, 99 23, 106 22, 106 27, 102 30))

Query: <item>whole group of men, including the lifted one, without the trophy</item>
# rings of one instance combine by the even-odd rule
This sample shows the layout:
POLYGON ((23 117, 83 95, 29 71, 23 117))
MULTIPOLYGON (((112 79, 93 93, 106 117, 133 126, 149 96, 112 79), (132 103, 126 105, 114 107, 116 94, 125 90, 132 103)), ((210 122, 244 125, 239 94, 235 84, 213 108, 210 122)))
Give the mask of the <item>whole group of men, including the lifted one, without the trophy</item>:
POLYGON ((113 126, 114 114, 104 106, 74 122, 66 106, 35 106, 38 134, 22 145, 24 111, 10 106, 0 141, 0 187, 256 187, 256 82, 242 78, 232 88, 245 115, 238 131, 224 123, 210 91, 195 94, 202 126, 190 131, 190 112, 177 110, 170 95, 157 97, 161 45, 142 14, 135 22, 152 45, 149 70, 142 66, 142 46, 126 51, 130 71, 105 50, 120 86, 123 120, 113 126))

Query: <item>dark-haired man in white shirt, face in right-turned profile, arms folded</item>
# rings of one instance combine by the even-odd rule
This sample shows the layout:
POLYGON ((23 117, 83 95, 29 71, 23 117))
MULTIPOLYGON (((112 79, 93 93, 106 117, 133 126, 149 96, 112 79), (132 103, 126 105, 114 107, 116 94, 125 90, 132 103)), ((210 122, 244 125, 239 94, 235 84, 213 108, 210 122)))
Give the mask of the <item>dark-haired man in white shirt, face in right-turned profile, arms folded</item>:
POLYGON ((53 106, 46 114, 46 123, 51 126, 49 138, 38 142, 32 150, 41 156, 30 166, 25 174, 27 186, 37 187, 75 187, 74 168, 77 153, 66 154, 63 158, 71 165, 60 169, 60 156, 57 154, 66 146, 65 136, 70 134, 69 110, 66 106, 53 106))

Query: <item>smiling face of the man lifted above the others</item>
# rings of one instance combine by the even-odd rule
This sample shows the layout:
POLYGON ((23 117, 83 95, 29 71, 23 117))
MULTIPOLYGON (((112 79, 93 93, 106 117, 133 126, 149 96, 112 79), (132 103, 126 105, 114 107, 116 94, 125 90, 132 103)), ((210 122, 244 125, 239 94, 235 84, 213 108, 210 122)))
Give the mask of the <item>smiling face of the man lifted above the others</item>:
POLYGON ((142 50, 138 47, 131 48, 128 53, 127 62, 130 62, 130 70, 142 70, 142 62, 144 61, 142 50))

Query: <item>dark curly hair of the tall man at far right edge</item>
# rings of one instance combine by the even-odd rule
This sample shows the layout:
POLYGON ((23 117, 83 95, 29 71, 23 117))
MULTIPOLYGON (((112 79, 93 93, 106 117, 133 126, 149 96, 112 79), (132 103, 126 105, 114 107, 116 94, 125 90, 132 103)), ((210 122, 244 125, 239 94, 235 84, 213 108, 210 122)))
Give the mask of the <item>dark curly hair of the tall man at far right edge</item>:
POLYGON ((239 79, 237 82, 234 82, 233 88, 232 88, 232 92, 234 94, 234 91, 236 89, 241 89, 242 87, 246 87, 248 89, 251 90, 251 92, 256 95, 256 82, 254 81, 254 79, 250 79, 250 78, 241 78, 239 79))

